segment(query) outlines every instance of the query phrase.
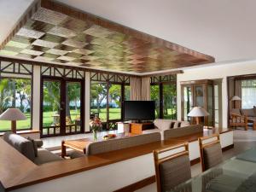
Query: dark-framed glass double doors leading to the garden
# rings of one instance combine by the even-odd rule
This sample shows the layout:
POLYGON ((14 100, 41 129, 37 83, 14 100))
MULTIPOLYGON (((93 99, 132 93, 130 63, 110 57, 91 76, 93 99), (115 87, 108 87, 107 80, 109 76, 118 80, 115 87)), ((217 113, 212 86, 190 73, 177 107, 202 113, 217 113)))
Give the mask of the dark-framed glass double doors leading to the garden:
POLYGON ((41 137, 84 132, 84 80, 41 80, 41 137))

